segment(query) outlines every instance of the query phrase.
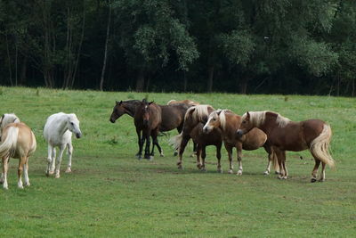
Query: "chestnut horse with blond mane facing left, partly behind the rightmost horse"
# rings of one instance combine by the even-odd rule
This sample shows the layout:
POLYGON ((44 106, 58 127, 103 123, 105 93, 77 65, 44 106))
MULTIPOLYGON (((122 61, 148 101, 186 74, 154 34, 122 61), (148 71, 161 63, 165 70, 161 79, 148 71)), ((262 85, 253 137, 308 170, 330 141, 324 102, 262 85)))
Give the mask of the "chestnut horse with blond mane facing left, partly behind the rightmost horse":
POLYGON ((265 175, 270 174, 271 162, 276 169, 277 161, 271 146, 265 144, 267 140, 267 135, 263 133, 262 130, 254 128, 249 131, 246 135, 241 137, 236 136, 236 130, 239 129, 241 125, 241 117, 230 110, 219 110, 213 111, 207 119, 206 125, 204 126, 204 131, 209 132, 214 128, 220 128, 223 131, 223 144, 225 145, 226 151, 229 154, 230 161, 230 173, 232 173, 232 148, 235 147, 238 154, 239 161, 239 171, 238 175, 242 175, 242 150, 253 151, 260 147, 264 147, 264 150, 268 152, 268 164, 264 171, 265 175))

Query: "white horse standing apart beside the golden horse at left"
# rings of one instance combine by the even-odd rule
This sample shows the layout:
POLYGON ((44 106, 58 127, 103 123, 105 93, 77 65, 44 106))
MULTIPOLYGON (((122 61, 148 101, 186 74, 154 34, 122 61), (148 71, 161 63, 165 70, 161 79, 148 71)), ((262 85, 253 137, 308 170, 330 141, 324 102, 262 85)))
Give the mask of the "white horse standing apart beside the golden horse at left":
POLYGON ((72 133, 74 133, 77 138, 82 136, 82 132, 79 128, 79 120, 77 119, 76 114, 59 112, 51 115, 47 119, 44 125, 44 139, 48 143, 48 165, 45 172, 46 176, 54 173, 54 163, 56 159, 55 147, 60 148, 60 154, 55 166, 55 177, 60 177, 61 157, 66 147, 68 148, 69 154, 69 162, 66 173, 71 172, 70 168, 72 166, 73 153, 72 133))

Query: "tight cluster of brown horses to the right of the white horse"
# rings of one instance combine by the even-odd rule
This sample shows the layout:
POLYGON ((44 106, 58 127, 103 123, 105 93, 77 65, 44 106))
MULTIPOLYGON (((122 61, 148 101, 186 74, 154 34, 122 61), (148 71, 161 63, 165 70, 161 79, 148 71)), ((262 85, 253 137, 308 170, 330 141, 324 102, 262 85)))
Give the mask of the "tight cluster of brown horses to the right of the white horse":
POLYGON ((301 152, 309 149, 315 160, 311 182, 317 181, 317 171, 322 164, 319 181, 325 181, 326 165, 335 167, 335 161, 328 152, 331 140, 331 128, 320 119, 308 119, 300 122, 284 118, 273 111, 247 111, 242 117, 230 110, 214 110, 211 105, 183 100, 170 101, 167 105, 148 102, 146 99, 116 102, 110 121, 128 114, 134 117, 134 126, 138 137, 139 152, 146 143, 144 158, 152 159, 154 147, 163 156, 158 144, 159 132, 176 128, 179 135, 170 139, 178 151, 178 168, 182 168, 182 154, 192 139, 197 156, 197 167, 206 170, 206 146, 216 147, 217 170, 222 172, 221 148, 224 144, 229 155, 229 173, 233 173, 232 150, 236 148, 239 162, 237 175, 242 175, 242 150, 253 151, 260 147, 268 153, 268 164, 264 171, 270 174, 271 164, 280 179, 287 179, 286 151, 301 152), (150 139, 153 146, 150 151, 150 139))

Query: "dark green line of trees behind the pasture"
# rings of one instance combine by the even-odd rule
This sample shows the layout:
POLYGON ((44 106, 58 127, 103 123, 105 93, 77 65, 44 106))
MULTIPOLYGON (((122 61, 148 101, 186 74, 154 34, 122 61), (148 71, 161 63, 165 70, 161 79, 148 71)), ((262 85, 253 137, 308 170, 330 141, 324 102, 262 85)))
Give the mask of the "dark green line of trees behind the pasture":
POLYGON ((356 1, 0 0, 0 81, 355 95, 356 1))

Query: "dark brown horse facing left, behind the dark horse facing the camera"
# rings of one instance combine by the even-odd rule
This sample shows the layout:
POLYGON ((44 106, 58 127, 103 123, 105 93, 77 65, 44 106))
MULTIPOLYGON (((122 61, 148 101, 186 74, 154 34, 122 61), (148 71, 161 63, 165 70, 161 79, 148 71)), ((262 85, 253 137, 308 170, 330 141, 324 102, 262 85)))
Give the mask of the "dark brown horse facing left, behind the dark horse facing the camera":
MULTIPOLYGON (((136 109, 142 104, 139 100, 129 100, 129 101, 120 101, 116 102, 116 105, 111 113, 109 121, 115 123, 115 121, 124 114, 128 114, 131 117, 134 117, 136 109)), ((182 126, 184 122, 185 112, 190 108, 189 104, 184 103, 172 103, 171 105, 158 105, 161 109, 161 123, 159 125, 159 131, 165 132, 170 131, 176 128, 179 133, 182 131, 182 126)), ((139 145, 142 141, 142 136, 138 136, 139 145)), ((152 138, 153 140, 153 138, 152 138)), ((158 141, 156 141, 158 145, 158 141)), ((160 146, 159 146, 160 148, 160 146)), ((151 155, 153 156, 153 147, 151 155)), ((139 153, 136 154, 139 157, 139 153)), ((161 151, 161 156, 163 152, 161 151)))

